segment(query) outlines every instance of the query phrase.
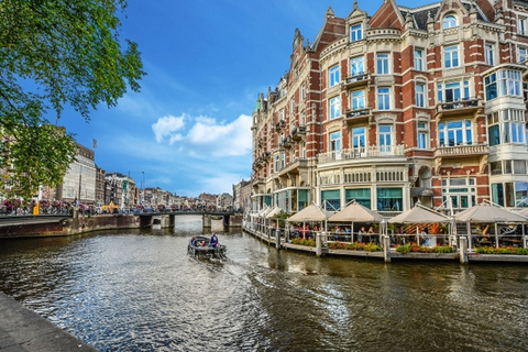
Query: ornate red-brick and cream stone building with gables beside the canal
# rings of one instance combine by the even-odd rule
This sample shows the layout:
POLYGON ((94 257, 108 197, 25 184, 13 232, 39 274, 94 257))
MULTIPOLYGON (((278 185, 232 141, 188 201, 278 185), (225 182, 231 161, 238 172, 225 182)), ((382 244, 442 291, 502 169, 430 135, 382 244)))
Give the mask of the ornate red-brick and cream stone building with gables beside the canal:
POLYGON ((253 209, 524 205, 527 58, 527 1, 329 8, 257 99, 253 209))

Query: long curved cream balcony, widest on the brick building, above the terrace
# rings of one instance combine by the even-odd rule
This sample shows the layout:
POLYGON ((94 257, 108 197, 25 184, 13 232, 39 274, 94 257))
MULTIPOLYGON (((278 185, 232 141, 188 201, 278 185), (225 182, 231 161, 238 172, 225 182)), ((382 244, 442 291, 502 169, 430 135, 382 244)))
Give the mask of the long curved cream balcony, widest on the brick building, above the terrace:
POLYGON ((362 146, 341 152, 328 152, 318 155, 318 163, 326 164, 341 161, 365 160, 365 158, 392 158, 395 156, 405 156, 404 145, 372 145, 362 146))

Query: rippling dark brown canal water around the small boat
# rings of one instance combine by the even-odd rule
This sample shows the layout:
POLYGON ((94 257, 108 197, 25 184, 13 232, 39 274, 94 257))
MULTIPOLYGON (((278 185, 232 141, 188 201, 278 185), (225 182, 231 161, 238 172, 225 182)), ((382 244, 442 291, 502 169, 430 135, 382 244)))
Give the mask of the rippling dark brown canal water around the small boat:
POLYGON ((0 290, 100 351, 527 351, 528 266, 277 251, 175 229, 0 242, 0 290))

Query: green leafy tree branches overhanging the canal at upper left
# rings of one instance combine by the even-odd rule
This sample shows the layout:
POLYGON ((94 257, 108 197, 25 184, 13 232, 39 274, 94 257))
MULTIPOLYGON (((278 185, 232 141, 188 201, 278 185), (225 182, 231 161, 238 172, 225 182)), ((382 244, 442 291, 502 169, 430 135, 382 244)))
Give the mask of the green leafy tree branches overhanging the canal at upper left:
POLYGON ((0 0, 0 187, 24 200, 61 184, 74 135, 55 124, 69 105, 86 121, 144 75, 138 45, 120 41, 125 0, 0 0), (125 48, 122 50, 122 44, 125 48))

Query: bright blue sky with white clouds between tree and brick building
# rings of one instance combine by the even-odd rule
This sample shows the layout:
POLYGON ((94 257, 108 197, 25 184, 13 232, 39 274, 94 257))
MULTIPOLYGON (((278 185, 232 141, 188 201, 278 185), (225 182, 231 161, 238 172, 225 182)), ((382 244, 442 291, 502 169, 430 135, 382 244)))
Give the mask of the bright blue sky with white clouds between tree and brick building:
MULTIPOLYGON (((289 68, 295 29, 310 43, 331 7, 345 18, 353 1, 128 0, 121 40, 139 45, 141 91, 129 89, 87 123, 59 124, 94 148, 96 165, 129 175, 136 187, 178 196, 232 194, 252 167, 252 112, 261 92, 289 68)), ((382 0, 360 0, 373 15, 382 0)), ((400 6, 429 2, 404 0, 400 6)))

